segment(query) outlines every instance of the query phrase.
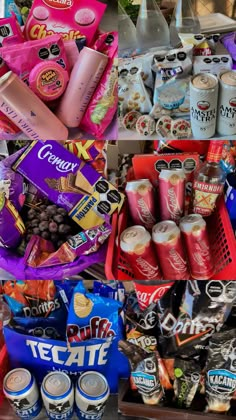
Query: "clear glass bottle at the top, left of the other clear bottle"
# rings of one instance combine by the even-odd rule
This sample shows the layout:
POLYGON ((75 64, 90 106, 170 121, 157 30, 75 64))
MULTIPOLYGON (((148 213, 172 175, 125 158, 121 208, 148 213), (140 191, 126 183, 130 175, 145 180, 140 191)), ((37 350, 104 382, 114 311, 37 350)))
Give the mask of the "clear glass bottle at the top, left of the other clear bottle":
POLYGON ((169 47, 170 31, 155 0, 142 0, 136 32, 139 52, 146 52, 155 47, 169 47))

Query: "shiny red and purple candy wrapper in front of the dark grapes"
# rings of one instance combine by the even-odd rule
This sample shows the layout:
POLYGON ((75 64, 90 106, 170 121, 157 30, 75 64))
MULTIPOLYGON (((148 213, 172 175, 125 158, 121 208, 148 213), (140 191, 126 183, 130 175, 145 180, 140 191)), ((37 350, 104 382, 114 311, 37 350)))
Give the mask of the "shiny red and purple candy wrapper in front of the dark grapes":
POLYGON ((96 252, 110 233, 111 226, 105 223, 72 236, 57 251, 51 242, 33 235, 26 248, 24 260, 30 267, 51 267, 70 263, 81 255, 96 252))

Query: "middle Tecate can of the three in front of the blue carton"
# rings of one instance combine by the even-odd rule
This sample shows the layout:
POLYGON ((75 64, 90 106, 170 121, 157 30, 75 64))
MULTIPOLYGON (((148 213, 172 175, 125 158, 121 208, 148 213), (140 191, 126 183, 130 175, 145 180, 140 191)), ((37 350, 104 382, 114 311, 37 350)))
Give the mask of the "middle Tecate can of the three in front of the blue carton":
POLYGON ((45 376, 41 395, 49 419, 71 419, 74 411, 74 387, 63 372, 50 372, 45 376))

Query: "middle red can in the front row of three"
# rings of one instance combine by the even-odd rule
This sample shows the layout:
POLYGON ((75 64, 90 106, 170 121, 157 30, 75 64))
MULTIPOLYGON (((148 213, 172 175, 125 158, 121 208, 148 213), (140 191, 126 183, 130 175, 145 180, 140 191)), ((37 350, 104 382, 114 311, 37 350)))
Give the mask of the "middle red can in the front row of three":
POLYGON ((188 280, 187 261, 181 241, 181 232, 175 222, 157 223, 152 229, 152 240, 164 279, 188 280))

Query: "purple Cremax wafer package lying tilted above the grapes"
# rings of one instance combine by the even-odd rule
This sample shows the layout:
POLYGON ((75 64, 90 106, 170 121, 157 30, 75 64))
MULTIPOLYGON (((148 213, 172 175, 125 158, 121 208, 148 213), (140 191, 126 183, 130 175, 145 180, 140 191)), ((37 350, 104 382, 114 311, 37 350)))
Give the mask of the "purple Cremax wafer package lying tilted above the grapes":
POLYGON ((13 169, 67 210, 83 229, 104 223, 124 201, 124 195, 91 165, 55 141, 32 142, 13 169))

